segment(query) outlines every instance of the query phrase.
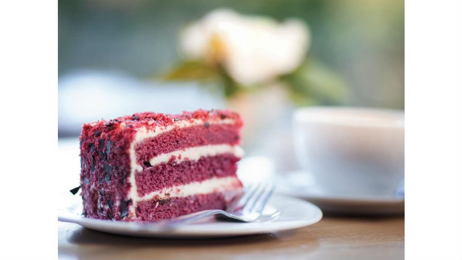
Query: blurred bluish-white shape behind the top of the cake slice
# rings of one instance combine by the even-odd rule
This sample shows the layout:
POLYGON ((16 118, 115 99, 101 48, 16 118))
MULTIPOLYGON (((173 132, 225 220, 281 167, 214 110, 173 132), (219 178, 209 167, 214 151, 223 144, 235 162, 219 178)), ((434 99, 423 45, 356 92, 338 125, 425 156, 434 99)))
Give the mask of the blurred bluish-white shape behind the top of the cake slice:
POLYGON ((224 106, 220 96, 195 83, 140 81, 114 71, 76 71, 59 77, 58 135, 77 136, 84 122, 135 112, 180 113, 224 106))

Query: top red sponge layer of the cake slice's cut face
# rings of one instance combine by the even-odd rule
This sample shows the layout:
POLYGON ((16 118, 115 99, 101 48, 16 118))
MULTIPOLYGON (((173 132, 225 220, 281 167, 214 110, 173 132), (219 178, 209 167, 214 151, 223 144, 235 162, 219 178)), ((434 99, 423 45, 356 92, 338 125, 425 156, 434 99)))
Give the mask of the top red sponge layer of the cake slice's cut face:
POLYGON ((143 165, 151 158, 184 148, 211 144, 235 145, 240 139, 239 129, 232 121, 231 123, 206 121, 199 125, 175 128, 137 143, 136 162, 138 165, 143 165))

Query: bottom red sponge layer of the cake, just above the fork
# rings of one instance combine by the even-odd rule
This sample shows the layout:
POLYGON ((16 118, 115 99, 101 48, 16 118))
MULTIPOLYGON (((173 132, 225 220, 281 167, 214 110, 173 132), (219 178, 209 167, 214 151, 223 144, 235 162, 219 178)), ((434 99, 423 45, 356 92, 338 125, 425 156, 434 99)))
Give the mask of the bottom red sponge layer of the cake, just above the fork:
POLYGON ((173 197, 164 200, 152 199, 138 202, 137 219, 142 221, 160 221, 206 209, 225 209, 231 199, 242 191, 213 192, 187 197, 173 197))

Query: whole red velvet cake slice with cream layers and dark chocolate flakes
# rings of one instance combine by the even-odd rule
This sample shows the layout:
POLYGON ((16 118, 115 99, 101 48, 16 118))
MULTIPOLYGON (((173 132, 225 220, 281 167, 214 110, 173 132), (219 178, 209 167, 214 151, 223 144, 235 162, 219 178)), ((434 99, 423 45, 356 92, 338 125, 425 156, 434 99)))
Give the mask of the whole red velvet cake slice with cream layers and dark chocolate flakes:
POLYGON ((137 113, 84 124, 80 186, 91 218, 159 221, 223 209, 236 176, 242 120, 228 110, 137 113))

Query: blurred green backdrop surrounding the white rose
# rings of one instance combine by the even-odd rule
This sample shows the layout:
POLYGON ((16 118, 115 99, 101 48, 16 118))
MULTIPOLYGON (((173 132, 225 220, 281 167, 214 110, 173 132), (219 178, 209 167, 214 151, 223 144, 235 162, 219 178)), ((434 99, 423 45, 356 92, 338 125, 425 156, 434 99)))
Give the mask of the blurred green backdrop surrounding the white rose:
POLYGON ((59 74, 82 68, 162 74, 181 59, 178 30, 218 7, 309 24, 309 58, 284 79, 299 104, 312 96, 338 103, 344 84, 344 104, 404 108, 403 0, 59 0, 59 74))

